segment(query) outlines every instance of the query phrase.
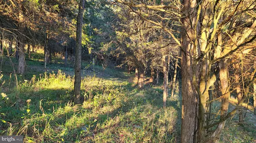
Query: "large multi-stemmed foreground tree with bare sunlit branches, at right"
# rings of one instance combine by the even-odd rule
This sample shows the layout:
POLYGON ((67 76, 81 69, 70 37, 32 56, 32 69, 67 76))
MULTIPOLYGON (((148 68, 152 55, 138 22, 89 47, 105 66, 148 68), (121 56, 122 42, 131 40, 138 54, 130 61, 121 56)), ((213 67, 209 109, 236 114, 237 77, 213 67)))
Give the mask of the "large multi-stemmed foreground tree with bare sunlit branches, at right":
POLYGON ((230 81, 227 66, 228 59, 236 55, 236 51, 251 48, 255 42, 256 21, 253 17, 255 4, 252 1, 233 0, 183 0, 166 1, 161 5, 150 5, 151 2, 133 1, 133 3, 116 0, 128 6, 143 20, 168 32, 181 46, 182 50, 182 143, 211 143, 218 140, 224 129, 225 121, 233 115, 248 96, 250 81, 244 90, 238 106, 227 112, 230 97, 230 81), (175 3, 175 4, 171 4, 175 3), (148 14, 161 11, 161 14, 148 14), (248 14, 249 13, 249 14, 248 14), (239 18, 238 18, 239 17, 239 18), (243 21, 243 18, 246 19, 243 21), (180 31, 171 25, 172 21, 181 21, 180 31), (239 23, 239 24, 236 24, 239 23), (241 23, 244 23, 241 26, 241 23), (247 23, 247 24, 245 24, 247 23), (240 26, 238 26, 240 25, 240 26), (228 29, 228 30, 227 30, 228 29), (176 33, 180 32, 180 39, 176 33), (214 56, 213 56, 214 55, 214 56), (215 66, 217 64, 217 67, 215 66), (219 76, 221 83, 221 111, 219 121, 209 123, 207 120, 209 87, 219 76), (209 123, 209 124, 208 124, 209 123), (213 128, 214 127, 214 128, 213 128), (209 129, 212 132, 207 132, 209 129))

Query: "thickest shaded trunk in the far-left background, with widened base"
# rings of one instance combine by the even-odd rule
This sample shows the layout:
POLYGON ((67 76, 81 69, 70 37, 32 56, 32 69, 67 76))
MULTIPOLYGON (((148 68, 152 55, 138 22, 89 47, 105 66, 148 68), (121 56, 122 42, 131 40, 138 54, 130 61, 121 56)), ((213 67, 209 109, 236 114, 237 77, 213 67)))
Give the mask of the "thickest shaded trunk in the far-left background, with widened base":
POLYGON ((25 44, 23 40, 23 36, 18 36, 19 39, 19 65, 17 73, 23 75, 26 68, 26 61, 25 61, 25 44))

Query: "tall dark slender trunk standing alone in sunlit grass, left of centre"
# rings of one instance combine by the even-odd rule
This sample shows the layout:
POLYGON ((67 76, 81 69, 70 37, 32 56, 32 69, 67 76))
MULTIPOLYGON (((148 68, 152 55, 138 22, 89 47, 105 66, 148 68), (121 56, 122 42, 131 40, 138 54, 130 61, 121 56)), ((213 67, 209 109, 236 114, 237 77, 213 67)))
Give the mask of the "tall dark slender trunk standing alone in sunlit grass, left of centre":
POLYGON ((76 59, 75 59, 75 84, 74 84, 74 102, 80 103, 80 89, 81 89, 81 48, 82 48, 82 26, 83 26, 83 12, 84 0, 80 0, 79 12, 77 15, 76 25, 76 59))

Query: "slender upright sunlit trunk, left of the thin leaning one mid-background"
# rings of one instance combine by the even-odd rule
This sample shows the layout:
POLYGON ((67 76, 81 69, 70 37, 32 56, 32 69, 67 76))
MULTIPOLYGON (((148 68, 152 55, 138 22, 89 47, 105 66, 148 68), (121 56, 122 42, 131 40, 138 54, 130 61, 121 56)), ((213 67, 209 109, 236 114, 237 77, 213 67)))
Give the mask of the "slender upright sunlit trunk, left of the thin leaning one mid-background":
POLYGON ((163 62, 163 108, 166 108, 166 98, 168 96, 168 76, 167 76, 167 70, 166 70, 166 56, 162 57, 163 62))

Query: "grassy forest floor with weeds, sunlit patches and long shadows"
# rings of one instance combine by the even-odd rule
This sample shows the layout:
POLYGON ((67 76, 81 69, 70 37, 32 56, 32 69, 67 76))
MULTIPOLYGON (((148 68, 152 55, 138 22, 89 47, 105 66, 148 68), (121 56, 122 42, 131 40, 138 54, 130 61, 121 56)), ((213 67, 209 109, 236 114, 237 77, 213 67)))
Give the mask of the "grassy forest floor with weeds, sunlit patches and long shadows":
MULTIPOLYGON (((56 58, 45 73, 43 58, 32 53, 26 59, 26 74, 17 76, 16 84, 9 59, 1 57, 0 135, 24 135, 26 143, 180 142, 180 86, 163 109, 161 85, 146 84, 139 90, 133 74, 99 65, 86 69, 90 63, 83 62, 84 103, 74 105, 70 102, 73 67, 56 58)), ((219 109, 218 102, 212 109, 219 109)), ((250 108, 244 125, 235 115, 226 122, 218 142, 256 143, 255 121, 250 108)))

